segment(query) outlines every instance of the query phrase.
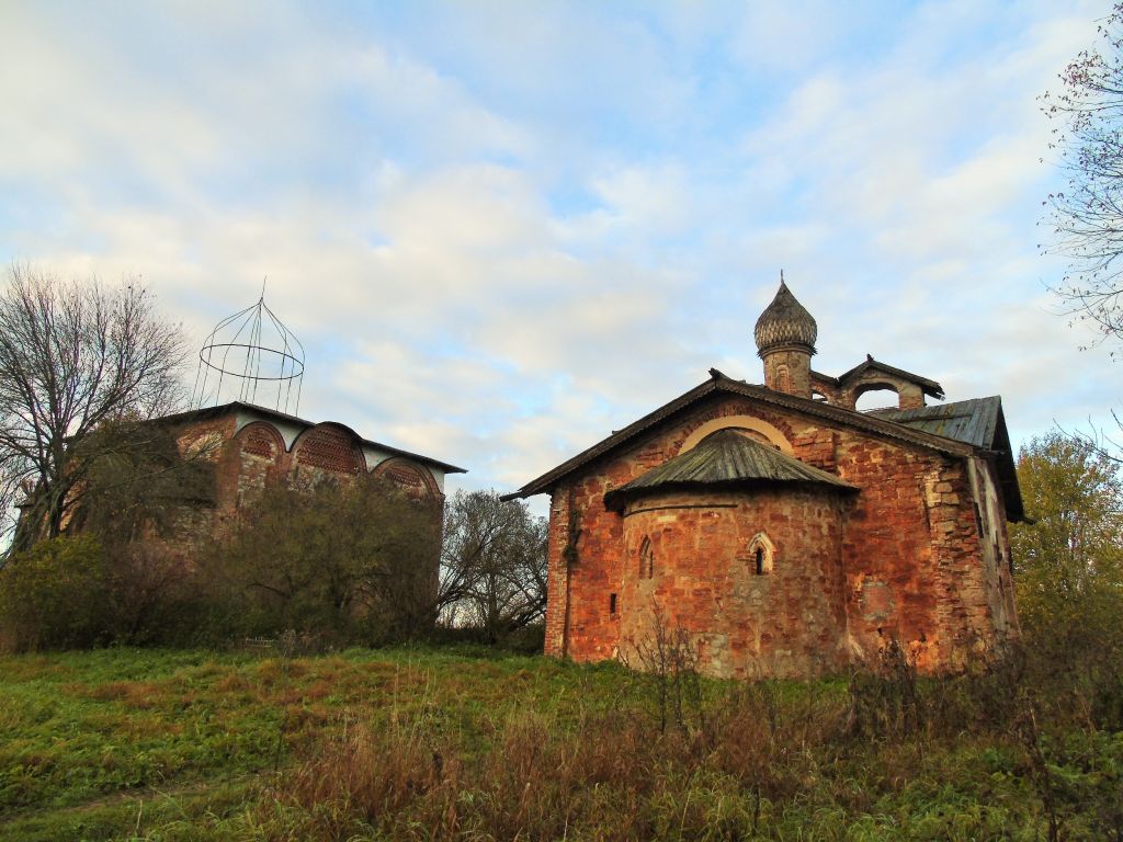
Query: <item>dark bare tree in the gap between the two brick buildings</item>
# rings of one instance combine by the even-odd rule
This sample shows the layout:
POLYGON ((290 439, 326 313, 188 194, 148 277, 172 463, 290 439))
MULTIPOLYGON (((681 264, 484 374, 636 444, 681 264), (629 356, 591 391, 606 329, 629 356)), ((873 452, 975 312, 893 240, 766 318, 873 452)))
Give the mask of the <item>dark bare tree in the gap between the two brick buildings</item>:
POLYGON ((446 502, 439 608, 445 623, 475 625, 490 640, 546 612, 546 520, 494 491, 446 502))

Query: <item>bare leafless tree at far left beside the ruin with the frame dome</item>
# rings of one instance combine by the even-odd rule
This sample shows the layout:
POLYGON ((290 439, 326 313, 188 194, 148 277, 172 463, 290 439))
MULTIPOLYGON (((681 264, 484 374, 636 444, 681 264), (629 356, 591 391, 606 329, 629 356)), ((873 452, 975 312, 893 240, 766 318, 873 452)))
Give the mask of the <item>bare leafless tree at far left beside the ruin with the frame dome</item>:
MULTIPOLYGON (((0 502, 26 496, 13 540, 52 538, 80 503, 109 421, 165 414, 182 400, 180 328, 127 280, 63 281, 12 266, 0 292, 0 502)), ((15 525, 4 509, 0 534, 15 525)))

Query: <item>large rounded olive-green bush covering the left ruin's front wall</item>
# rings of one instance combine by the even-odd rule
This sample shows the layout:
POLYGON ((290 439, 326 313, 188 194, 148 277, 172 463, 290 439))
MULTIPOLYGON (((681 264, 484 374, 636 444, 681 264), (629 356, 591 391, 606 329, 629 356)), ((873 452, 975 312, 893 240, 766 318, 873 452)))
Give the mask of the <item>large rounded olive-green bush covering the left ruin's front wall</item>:
POLYGON ((439 530, 431 503, 389 481, 277 485, 203 564, 244 631, 376 643, 432 626, 439 530))

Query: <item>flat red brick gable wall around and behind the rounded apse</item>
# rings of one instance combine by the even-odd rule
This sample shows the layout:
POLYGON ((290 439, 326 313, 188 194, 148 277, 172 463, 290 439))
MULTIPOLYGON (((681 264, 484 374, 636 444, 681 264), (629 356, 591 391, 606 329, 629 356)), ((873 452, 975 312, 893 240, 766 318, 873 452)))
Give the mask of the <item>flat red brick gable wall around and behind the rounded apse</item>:
MULTIPOLYGON (((995 637, 1001 617, 992 608, 962 459, 849 429, 830 429, 794 412, 764 410, 748 399, 715 396, 554 489, 548 655, 596 660, 619 651, 623 614, 611 619, 608 598, 617 593, 623 600, 626 570, 632 559, 626 519, 604 509, 604 493, 676 456, 683 441, 703 423, 729 415, 767 421, 785 434, 796 458, 861 489, 840 514, 837 544, 846 651, 855 657, 871 655, 895 638, 923 669, 939 669, 955 662, 973 643, 995 637), (579 539, 567 559, 573 523, 579 523, 579 539)), ((791 497, 785 505, 802 505, 795 496, 784 496, 791 497)), ((830 625, 823 613, 830 601, 827 594, 809 596, 807 611, 824 629, 830 625)), ((713 624, 713 611, 699 604, 691 622, 697 629, 713 624)), ((792 663, 801 657, 810 663, 806 653, 785 656, 792 663)), ((821 656, 824 662, 832 657, 821 656)), ((734 671, 736 662, 730 661, 734 671)))

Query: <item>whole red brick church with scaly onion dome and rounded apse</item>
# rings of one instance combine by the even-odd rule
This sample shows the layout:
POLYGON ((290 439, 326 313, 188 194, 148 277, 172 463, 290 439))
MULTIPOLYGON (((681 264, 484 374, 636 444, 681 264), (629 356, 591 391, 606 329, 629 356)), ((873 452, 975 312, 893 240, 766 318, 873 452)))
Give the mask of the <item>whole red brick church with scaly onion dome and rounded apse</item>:
POLYGON ((1016 634, 1001 399, 928 406, 938 383, 868 356, 820 374, 816 336, 782 281, 763 386, 711 369, 510 495, 551 496, 547 655, 629 657, 663 624, 718 676, 829 672, 891 640, 932 671, 1016 634), (896 409, 855 409, 886 388, 896 409))

